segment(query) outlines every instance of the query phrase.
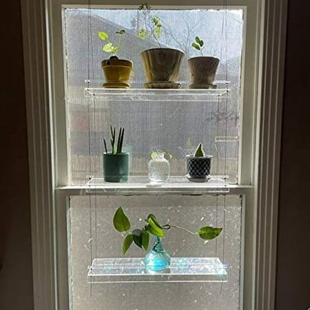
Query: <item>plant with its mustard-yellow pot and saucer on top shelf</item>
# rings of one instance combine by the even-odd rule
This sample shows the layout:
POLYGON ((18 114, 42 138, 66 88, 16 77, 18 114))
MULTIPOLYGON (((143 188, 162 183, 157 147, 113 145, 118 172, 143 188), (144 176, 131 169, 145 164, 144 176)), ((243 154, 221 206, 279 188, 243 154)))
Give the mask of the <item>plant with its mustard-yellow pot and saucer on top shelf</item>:
POLYGON ((101 61, 101 68, 105 74, 106 83, 103 83, 105 88, 129 88, 130 74, 132 73, 132 61, 126 59, 118 59, 117 53, 121 46, 121 37, 125 34, 125 30, 116 32, 118 35, 117 45, 113 45, 109 40, 109 35, 106 32, 100 31, 99 38, 107 43, 103 46, 103 52, 109 53, 109 59, 101 61))

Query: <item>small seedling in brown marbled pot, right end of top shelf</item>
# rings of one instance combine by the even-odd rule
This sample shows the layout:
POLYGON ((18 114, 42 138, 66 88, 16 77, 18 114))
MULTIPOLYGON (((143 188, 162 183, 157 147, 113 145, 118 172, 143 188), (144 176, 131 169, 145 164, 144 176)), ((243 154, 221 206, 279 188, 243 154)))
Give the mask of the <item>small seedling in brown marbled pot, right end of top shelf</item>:
POLYGON ((192 47, 199 50, 201 56, 192 57, 188 60, 189 71, 192 76, 192 83, 189 84, 189 88, 216 88, 217 86, 213 82, 220 59, 203 56, 205 43, 199 37, 195 38, 192 47))

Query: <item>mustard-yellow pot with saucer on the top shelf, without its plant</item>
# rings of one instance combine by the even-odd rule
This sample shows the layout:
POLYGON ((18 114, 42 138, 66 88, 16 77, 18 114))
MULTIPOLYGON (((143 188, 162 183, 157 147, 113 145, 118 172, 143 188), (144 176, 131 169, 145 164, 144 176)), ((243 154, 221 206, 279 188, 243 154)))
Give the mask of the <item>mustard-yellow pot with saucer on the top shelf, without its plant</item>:
POLYGON ((129 88, 132 61, 118 59, 116 56, 101 61, 101 68, 105 74, 105 88, 129 88))

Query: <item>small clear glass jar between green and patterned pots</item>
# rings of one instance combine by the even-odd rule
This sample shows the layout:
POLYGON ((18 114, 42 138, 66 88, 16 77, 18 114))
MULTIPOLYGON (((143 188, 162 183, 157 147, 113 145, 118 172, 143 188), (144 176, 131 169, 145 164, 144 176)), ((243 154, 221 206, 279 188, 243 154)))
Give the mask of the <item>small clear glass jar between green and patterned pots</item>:
POLYGON ((170 164, 161 151, 152 152, 152 159, 149 161, 149 180, 152 182, 165 182, 170 176, 170 164))

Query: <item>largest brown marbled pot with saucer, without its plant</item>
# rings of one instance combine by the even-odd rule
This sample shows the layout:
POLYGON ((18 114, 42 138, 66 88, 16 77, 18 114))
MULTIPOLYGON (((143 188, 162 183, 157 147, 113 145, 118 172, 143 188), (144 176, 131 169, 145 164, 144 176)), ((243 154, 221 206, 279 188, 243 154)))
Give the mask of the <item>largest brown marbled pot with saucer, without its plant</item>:
POLYGON ((184 53, 172 48, 152 48, 141 53, 145 88, 179 88, 176 83, 184 53))

